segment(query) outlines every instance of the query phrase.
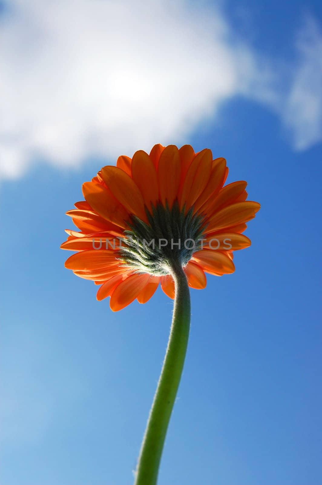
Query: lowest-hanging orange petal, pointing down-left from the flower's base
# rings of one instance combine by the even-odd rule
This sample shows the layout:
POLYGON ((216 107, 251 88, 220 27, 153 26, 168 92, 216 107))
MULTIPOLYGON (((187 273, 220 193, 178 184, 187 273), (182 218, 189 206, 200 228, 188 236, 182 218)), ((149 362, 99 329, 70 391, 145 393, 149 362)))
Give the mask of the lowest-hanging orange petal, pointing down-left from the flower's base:
POLYGON ((124 279, 112 292, 109 306, 112 311, 119 311, 130 305, 143 290, 150 279, 150 275, 130 275, 124 279))

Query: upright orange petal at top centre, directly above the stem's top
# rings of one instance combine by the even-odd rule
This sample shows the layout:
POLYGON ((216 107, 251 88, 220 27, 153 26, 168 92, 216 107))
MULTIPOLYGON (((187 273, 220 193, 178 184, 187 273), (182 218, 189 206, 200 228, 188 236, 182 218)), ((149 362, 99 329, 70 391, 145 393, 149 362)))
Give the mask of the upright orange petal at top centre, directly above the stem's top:
POLYGON ((179 150, 174 145, 166 146, 160 156, 158 165, 158 181, 160 199, 164 207, 166 200, 171 209, 177 197, 180 183, 181 162, 179 150))

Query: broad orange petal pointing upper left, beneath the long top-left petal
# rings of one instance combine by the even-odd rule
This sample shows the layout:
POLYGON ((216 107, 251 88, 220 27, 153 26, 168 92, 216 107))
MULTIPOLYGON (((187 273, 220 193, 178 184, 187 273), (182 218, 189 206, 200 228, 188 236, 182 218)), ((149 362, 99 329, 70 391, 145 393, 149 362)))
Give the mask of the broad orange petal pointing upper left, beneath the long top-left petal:
POLYGON ((107 188, 93 182, 85 182, 82 189, 85 199, 97 214, 117 226, 127 227, 125 221, 129 219, 128 212, 107 188))

